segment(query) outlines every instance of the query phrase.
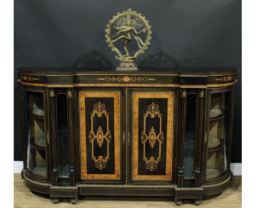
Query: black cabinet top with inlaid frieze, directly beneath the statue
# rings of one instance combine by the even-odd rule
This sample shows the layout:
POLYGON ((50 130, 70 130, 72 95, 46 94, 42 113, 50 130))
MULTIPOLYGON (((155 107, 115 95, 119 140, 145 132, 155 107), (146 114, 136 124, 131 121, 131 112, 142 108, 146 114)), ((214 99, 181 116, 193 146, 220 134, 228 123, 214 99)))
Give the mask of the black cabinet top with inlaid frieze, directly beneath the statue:
POLYGON ((18 81, 41 87, 225 87, 237 81, 236 68, 19 68, 18 81))

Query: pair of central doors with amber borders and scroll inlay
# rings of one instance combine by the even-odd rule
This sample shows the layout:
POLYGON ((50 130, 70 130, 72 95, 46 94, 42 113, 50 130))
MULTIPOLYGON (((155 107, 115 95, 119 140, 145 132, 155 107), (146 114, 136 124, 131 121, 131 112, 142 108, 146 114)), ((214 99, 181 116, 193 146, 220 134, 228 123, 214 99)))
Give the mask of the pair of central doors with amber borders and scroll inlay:
POLYGON ((177 89, 79 89, 77 96, 83 182, 174 181, 177 89))

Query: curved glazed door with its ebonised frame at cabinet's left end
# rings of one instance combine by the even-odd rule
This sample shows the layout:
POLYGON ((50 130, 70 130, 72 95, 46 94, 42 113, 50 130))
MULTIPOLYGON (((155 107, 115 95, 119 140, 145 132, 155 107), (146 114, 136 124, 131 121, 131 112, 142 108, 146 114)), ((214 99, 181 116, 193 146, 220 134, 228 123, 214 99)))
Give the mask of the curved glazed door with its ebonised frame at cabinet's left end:
POLYGON ((21 93, 26 173, 33 179, 49 181, 49 132, 46 123, 46 91, 44 88, 22 87, 21 93))

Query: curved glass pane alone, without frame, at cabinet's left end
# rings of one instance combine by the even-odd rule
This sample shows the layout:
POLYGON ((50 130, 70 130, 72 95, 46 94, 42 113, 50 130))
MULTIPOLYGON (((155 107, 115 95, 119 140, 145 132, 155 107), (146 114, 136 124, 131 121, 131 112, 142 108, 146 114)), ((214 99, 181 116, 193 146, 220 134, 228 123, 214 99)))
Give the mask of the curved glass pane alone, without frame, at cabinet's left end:
POLYGON ((34 175, 46 178, 44 94, 23 91, 27 169, 34 175))

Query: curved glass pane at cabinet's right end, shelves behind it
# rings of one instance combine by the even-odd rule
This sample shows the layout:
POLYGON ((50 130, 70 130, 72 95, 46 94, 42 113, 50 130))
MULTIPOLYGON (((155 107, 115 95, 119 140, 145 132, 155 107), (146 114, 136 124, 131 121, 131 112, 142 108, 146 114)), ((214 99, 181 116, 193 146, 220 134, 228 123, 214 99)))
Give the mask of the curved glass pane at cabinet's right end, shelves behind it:
POLYGON ((225 172, 229 156, 231 92, 211 93, 206 179, 225 172))

